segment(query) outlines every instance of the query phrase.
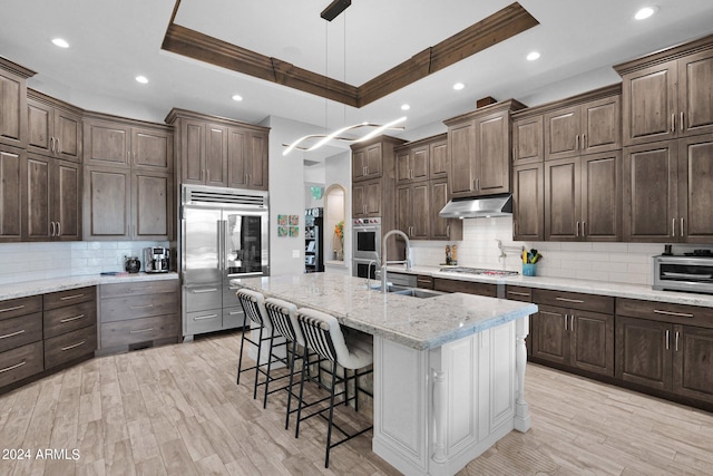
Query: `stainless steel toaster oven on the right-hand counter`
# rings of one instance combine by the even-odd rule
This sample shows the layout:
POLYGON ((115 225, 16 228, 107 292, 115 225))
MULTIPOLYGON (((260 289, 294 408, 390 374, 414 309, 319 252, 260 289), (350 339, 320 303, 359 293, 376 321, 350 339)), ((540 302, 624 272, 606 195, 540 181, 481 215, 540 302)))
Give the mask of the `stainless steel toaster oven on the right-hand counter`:
POLYGON ((654 256, 653 289, 713 294, 713 255, 654 256))

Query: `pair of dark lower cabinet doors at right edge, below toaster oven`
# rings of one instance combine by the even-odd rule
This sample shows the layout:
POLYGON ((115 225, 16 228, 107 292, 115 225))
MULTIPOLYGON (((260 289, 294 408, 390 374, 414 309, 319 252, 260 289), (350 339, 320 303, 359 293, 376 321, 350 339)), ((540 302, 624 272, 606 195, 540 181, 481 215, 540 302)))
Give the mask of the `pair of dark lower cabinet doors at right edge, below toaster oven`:
POLYGON ((617 317, 616 377, 713 402, 713 330, 617 317))

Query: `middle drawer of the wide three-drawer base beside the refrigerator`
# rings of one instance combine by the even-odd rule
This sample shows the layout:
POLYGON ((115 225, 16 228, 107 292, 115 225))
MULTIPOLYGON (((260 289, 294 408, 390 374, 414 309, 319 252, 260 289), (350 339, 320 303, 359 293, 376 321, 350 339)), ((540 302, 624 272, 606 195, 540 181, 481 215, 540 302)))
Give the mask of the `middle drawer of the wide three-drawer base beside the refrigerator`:
POLYGON ((150 294, 101 299, 101 322, 125 321, 152 315, 176 314, 176 294, 150 294))

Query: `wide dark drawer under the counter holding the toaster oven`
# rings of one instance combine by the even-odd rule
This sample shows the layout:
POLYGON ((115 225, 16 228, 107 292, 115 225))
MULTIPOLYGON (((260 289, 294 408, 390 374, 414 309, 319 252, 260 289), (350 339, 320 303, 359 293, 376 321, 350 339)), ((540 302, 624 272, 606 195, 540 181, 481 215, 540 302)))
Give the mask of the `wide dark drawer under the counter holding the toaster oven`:
POLYGON ((713 328, 713 308, 619 298, 616 300, 616 314, 674 324, 713 328))

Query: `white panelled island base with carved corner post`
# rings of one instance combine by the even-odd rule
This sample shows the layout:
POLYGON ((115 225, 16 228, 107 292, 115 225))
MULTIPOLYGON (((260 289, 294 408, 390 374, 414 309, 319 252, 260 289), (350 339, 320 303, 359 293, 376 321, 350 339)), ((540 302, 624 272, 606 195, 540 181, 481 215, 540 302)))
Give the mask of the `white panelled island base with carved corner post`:
POLYGON ((453 475, 527 431, 527 334, 525 317, 428 350, 374 336, 373 451, 407 475, 453 475))

